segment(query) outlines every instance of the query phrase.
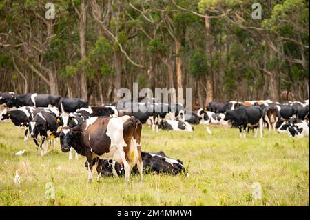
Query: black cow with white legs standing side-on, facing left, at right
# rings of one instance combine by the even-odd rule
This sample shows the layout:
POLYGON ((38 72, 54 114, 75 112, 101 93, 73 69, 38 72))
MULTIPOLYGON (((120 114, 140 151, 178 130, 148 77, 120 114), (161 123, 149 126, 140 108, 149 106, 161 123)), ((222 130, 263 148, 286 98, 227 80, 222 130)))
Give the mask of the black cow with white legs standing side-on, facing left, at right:
POLYGON ((240 107, 237 110, 228 110, 225 114, 225 121, 234 121, 240 131, 240 137, 246 136, 248 127, 255 128, 255 137, 257 137, 258 128, 260 129, 260 137, 262 138, 262 109, 259 106, 240 107))

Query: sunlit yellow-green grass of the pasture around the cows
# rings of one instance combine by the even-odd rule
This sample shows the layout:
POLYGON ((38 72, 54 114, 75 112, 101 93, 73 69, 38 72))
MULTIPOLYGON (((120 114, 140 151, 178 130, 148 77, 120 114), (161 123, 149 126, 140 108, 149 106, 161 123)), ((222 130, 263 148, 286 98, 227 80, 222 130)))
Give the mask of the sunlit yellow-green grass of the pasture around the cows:
MULTIPOLYGON (((195 126, 194 132, 152 132, 143 126, 142 149, 164 150, 181 159, 189 177, 148 174, 144 183, 131 176, 93 179, 87 183, 85 157, 69 161, 56 152, 39 157, 23 130, 0 124, 0 206, 309 206, 309 139, 264 130, 263 139, 240 139, 238 130, 195 126), (26 149, 17 157, 14 153, 26 149), (15 186, 19 169, 21 185, 15 186), (55 199, 46 199, 52 182, 55 199), (262 199, 254 199, 251 185, 259 182, 262 199)), ((95 170, 93 177, 95 177, 95 170)))

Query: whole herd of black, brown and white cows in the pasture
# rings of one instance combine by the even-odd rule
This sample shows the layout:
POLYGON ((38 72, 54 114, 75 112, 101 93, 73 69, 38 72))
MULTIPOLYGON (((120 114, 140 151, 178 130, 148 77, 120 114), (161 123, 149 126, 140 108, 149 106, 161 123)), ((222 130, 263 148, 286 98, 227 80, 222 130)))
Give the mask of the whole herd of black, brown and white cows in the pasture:
POLYGON ((59 137, 61 151, 72 148, 86 157, 88 180, 92 179, 92 166, 99 175, 118 177, 125 173, 185 172, 183 162, 160 152, 141 151, 142 124, 148 123, 153 131, 184 130, 192 132, 193 124, 203 123, 211 134, 209 124, 237 127, 240 137, 249 128, 255 137, 263 127, 269 131, 286 132, 291 137, 309 137, 309 100, 304 102, 273 103, 272 101, 210 102, 198 112, 185 110, 180 104, 169 105, 155 99, 141 98, 118 101, 110 105, 89 106, 87 100, 63 98, 50 94, 23 94, 0 92, 0 104, 6 108, 0 120, 10 119, 15 126, 25 128, 25 141, 32 138, 37 154, 47 154, 48 145, 54 148, 59 137))

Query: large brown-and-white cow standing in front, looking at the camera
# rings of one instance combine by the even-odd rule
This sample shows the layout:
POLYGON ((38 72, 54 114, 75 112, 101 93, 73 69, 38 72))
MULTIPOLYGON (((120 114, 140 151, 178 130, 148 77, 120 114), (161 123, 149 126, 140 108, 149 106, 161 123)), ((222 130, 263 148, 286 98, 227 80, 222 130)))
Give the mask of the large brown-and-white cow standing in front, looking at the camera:
POLYGON ((101 174, 103 159, 112 159, 123 164, 125 182, 128 182, 130 170, 135 165, 143 181, 141 130, 140 121, 125 115, 91 117, 74 128, 63 127, 61 132, 54 132, 53 135, 60 137, 62 152, 68 152, 72 147, 86 157, 88 181, 92 181, 93 157, 99 157, 96 168, 98 175, 101 174))

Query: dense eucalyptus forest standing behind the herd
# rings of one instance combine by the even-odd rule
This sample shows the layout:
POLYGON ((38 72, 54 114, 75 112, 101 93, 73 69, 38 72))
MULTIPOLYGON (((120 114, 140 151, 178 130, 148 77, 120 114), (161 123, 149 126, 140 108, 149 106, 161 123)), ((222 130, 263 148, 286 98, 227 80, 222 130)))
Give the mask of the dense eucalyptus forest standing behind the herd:
POLYGON ((0 1, 0 91, 99 105, 119 88, 209 101, 309 99, 309 1, 0 1), (252 4, 262 6, 253 19, 252 4))

